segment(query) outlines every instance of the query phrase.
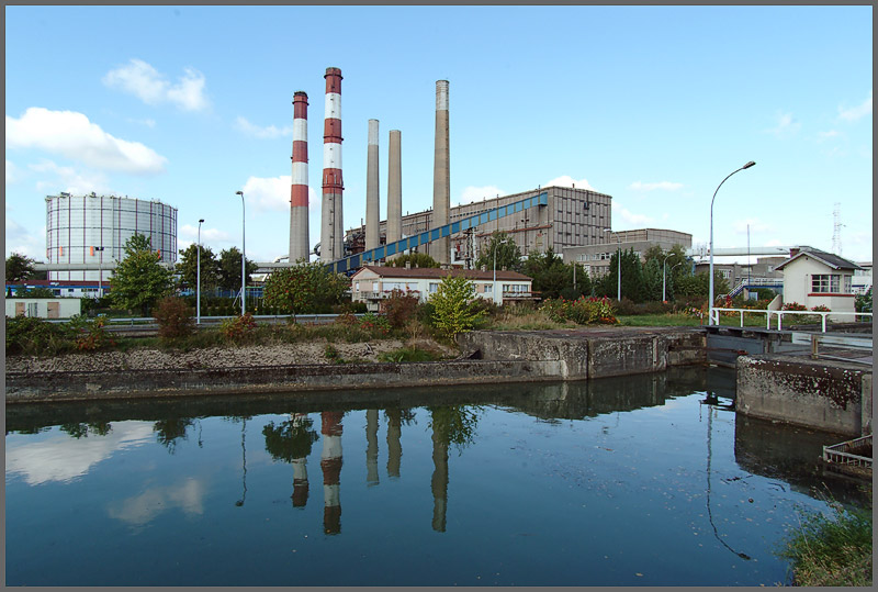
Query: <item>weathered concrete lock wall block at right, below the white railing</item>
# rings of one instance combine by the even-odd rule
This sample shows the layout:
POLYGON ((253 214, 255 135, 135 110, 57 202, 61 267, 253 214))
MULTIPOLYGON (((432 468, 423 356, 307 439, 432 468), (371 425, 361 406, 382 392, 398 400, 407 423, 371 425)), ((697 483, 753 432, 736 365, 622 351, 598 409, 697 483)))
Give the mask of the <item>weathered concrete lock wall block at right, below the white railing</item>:
POLYGON ((871 369, 777 354, 742 356, 735 407, 744 415, 860 436, 871 429, 871 369))

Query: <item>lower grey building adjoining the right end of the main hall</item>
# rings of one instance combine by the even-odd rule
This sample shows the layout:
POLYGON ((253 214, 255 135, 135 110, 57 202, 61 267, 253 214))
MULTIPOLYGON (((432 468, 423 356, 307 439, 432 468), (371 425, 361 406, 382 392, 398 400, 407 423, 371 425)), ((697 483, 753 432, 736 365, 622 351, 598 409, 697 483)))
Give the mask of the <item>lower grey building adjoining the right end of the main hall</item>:
MULTIPOLYGON (((609 225, 605 228, 609 228, 609 225)), ((622 250, 634 249, 634 254, 640 257, 641 261, 644 261, 644 254, 651 247, 657 246, 662 250, 669 250, 675 245, 679 245, 685 250, 693 245, 691 234, 666 228, 603 232, 598 238, 599 241, 588 246, 564 248, 564 263, 576 261, 585 268, 589 276, 597 278, 607 273, 610 258, 620 248, 622 250)))

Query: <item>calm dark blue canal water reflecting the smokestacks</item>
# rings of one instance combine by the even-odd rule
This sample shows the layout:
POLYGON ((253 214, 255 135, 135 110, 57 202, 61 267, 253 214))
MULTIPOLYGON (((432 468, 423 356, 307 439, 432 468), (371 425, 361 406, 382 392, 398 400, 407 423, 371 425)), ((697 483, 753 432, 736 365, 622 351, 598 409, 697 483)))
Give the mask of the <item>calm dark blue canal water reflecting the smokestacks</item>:
POLYGON ((8 585, 774 585, 856 487, 720 369, 7 406, 8 585))

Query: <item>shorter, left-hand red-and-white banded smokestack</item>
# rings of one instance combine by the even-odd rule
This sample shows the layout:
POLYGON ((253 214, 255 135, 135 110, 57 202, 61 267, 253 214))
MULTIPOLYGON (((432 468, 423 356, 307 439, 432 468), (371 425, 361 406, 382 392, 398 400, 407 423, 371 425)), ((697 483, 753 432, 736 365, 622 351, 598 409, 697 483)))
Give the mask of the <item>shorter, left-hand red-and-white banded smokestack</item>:
POLYGON ((308 96, 293 94, 293 182, 290 188, 290 263, 308 260, 308 96))

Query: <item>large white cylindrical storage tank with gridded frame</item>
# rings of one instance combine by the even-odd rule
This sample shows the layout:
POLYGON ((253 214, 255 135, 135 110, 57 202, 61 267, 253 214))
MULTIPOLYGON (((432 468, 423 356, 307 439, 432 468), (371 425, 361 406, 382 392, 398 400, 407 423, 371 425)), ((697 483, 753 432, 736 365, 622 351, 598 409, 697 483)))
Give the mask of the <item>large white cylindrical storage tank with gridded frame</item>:
MULTIPOLYGON (((103 264, 124 258, 136 234, 151 239, 161 261, 177 261, 177 208, 117 196, 46 197, 46 263, 103 264)), ((94 271, 49 271, 49 280, 98 281, 94 271)), ((100 271, 108 281, 111 270, 100 271)))

